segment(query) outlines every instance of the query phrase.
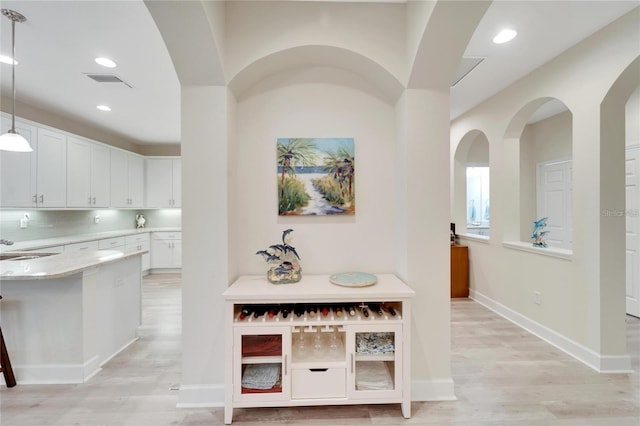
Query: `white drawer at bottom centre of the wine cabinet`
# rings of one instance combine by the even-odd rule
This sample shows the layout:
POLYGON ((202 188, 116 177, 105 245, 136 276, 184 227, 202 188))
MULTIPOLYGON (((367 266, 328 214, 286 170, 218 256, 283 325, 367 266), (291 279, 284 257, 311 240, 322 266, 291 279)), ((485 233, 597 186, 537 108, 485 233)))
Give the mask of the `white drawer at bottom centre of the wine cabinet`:
POLYGON ((293 369, 292 398, 344 398, 347 395, 344 368, 293 369))

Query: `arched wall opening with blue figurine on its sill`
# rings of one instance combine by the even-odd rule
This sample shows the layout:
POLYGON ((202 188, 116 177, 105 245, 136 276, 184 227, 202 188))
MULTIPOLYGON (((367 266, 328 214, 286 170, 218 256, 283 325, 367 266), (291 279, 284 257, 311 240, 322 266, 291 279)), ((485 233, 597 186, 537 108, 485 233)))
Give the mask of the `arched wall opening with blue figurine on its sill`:
POLYGON ((551 99, 527 121, 519 140, 520 240, 532 242, 533 223, 547 217, 549 247, 571 249, 573 116, 551 99))

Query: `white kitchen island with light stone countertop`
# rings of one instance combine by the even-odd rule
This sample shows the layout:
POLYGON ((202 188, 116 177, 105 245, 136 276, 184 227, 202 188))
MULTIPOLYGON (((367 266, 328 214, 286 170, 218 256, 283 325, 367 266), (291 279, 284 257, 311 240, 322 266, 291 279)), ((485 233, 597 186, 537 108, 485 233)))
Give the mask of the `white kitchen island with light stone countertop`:
POLYGON ((0 261, 0 321, 18 384, 83 383, 137 339, 146 251, 0 261))

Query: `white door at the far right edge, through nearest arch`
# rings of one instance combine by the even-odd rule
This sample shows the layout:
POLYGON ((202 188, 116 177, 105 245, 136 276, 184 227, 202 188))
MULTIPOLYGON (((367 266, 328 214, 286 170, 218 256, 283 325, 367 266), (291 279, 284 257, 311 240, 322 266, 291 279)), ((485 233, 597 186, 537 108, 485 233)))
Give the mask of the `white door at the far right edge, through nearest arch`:
POLYGON ((626 152, 627 313, 640 317, 640 148, 626 152))

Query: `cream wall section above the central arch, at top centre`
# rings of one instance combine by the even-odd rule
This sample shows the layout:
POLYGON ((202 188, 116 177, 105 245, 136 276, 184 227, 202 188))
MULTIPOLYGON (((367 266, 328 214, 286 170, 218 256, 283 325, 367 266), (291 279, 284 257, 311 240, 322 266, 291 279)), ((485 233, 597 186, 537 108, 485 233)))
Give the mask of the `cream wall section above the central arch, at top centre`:
MULTIPOLYGON (((257 59, 296 46, 338 46, 401 79, 406 74, 404 22, 402 4, 229 2, 225 73, 233 78, 257 59)), ((331 58, 296 59, 318 64, 331 58)))

